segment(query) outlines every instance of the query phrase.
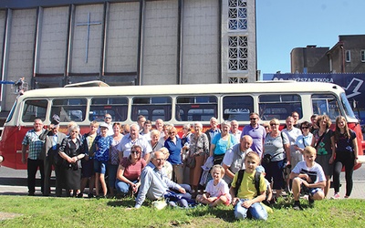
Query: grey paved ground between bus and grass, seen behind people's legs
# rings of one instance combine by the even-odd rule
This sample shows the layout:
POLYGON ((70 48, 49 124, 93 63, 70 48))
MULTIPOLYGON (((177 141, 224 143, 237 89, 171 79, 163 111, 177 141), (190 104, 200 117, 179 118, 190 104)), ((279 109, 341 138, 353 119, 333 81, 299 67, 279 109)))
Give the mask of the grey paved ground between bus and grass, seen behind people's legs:
MULTIPOLYGON (((342 187, 339 191, 339 195, 341 196, 341 198, 343 198, 343 196, 345 195, 346 182, 344 176, 344 172, 342 172, 340 176, 342 187)), ((37 178, 39 179, 39 172, 37 172, 37 178)), ((365 199, 365 164, 363 164, 362 167, 357 171, 354 171, 353 181, 354 186, 351 193, 351 198, 365 199)), ((39 180, 37 180, 37 186, 40 186, 39 180)), ((55 189, 52 188, 51 191, 54 193, 55 189)), ((332 196, 333 193, 333 189, 330 189, 328 193, 328 198, 332 196)), ((6 167, 0 167, 0 195, 26 194, 26 171, 17 171, 6 167)), ((41 195, 40 187, 36 187, 36 195, 41 195)))

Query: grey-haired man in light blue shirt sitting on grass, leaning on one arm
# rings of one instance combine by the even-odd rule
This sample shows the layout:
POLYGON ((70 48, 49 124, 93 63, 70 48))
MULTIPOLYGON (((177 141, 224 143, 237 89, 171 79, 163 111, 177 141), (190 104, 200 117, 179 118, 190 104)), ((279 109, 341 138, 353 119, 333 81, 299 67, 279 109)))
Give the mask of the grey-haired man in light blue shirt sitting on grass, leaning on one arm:
MULTIPOLYGON (((146 199, 155 201, 163 198, 190 199, 192 196, 186 193, 185 189, 179 184, 171 181, 163 171, 163 164, 166 156, 161 151, 151 153, 151 162, 141 172, 141 187, 136 198, 134 208, 140 208, 146 199), (170 190, 174 190, 175 193, 170 190)), ((186 201, 184 201, 187 203, 186 201)), ((186 207, 187 205, 183 205, 186 207)))

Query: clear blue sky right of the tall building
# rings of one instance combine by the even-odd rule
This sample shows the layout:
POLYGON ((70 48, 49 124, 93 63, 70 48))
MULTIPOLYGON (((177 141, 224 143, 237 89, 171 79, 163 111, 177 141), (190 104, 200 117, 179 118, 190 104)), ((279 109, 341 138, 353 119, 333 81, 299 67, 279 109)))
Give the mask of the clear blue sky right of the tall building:
POLYGON ((293 48, 331 48, 339 35, 365 35, 365 0, 256 0, 261 76, 290 73, 293 48))

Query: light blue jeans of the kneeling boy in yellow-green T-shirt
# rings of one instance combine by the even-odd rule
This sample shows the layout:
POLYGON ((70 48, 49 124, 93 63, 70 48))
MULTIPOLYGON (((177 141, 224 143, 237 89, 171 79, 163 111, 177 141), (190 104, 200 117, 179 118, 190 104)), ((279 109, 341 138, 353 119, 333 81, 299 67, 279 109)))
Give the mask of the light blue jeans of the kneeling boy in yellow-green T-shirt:
POLYGON ((245 219, 247 217, 247 211, 251 212, 252 218, 257 220, 266 220, 267 212, 266 209, 261 205, 260 202, 255 202, 249 208, 242 206, 242 203, 248 201, 248 199, 241 199, 235 204, 235 218, 245 219))

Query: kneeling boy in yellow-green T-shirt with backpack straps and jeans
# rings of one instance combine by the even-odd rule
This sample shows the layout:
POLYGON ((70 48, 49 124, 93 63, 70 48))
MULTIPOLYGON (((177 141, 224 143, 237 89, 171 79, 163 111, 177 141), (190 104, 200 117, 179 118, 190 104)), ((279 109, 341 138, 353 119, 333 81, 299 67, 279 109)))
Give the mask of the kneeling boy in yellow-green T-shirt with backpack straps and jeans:
POLYGON ((255 171, 260 158, 252 151, 245 156, 245 171, 235 173, 230 193, 235 206, 235 218, 245 219, 247 212, 257 220, 266 220, 267 212, 261 204, 266 199, 266 181, 264 175, 255 171))

